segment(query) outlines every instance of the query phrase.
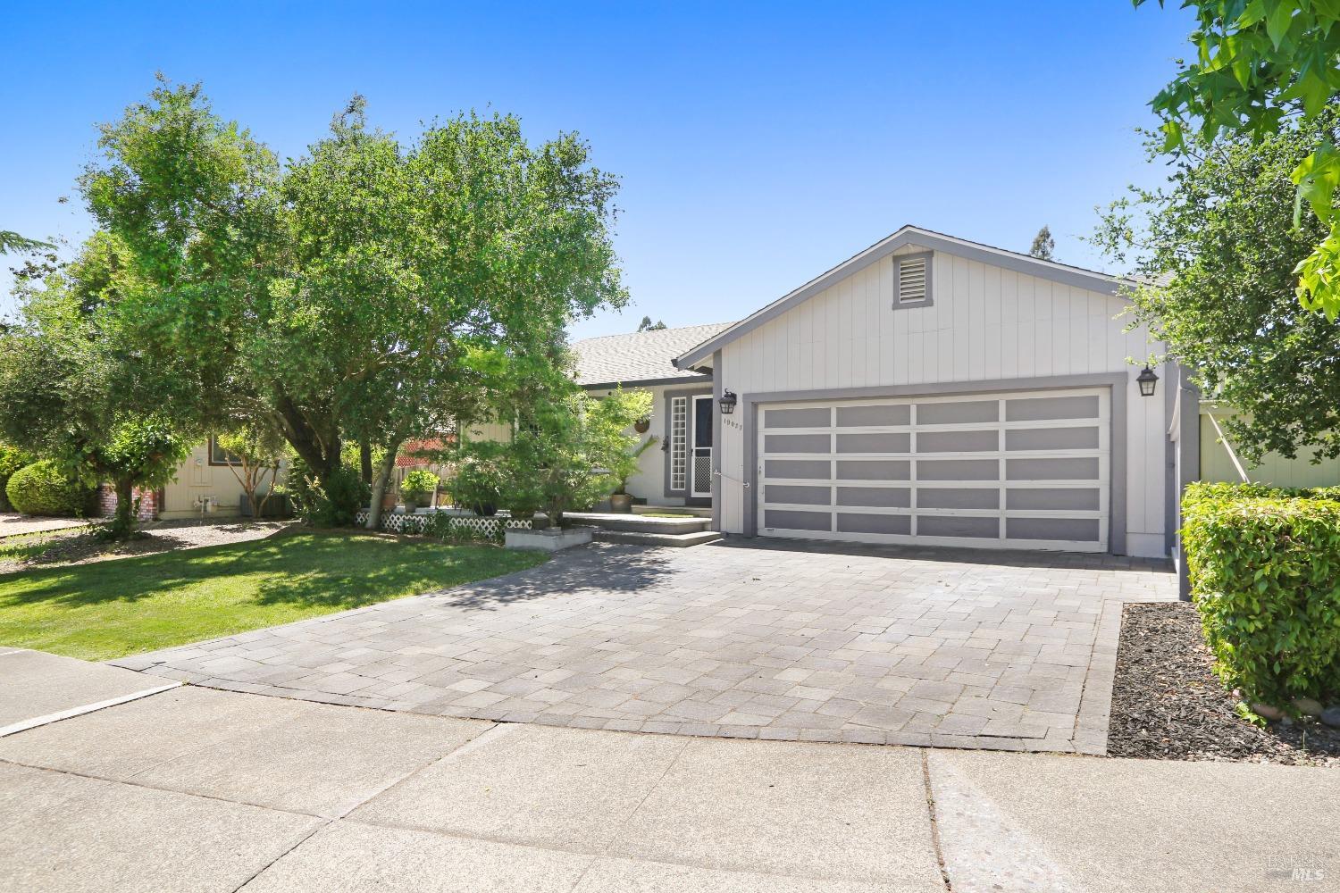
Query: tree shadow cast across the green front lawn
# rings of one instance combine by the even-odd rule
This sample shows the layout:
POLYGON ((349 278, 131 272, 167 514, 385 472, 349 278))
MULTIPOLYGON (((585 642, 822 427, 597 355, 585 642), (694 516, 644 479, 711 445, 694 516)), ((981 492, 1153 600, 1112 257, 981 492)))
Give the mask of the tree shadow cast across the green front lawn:
POLYGON ((256 605, 356 608, 524 566, 500 558, 504 554, 493 548, 446 550, 430 541, 284 530, 265 540, 4 574, 0 608, 135 602, 206 581, 249 585, 255 593, 248 601, 256 605))

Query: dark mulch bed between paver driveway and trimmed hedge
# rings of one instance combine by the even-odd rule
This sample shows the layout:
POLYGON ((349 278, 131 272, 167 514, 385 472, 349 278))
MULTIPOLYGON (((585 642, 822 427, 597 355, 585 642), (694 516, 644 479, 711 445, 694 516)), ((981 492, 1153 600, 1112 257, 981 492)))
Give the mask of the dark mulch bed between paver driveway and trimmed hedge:
POLYGON ((1340 730, 1315 720, 1253 726, 1213 668, 1194 605, 1126 605, 1107 752, 1340 767, 1340 730))

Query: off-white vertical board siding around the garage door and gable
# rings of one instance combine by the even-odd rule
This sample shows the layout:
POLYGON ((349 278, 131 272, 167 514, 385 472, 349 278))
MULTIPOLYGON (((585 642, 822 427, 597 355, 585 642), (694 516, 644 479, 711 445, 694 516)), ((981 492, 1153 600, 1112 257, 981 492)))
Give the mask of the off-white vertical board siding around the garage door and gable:
MULTIPOLYGON (((1127 361, 1158 345, 1114 319, 1126 303, 945 252, 933 265, 931 305, 892 309, 894 261, 884 258, 725 344, 714 378, 744 396, 962 382, 989 390, 1000 379, 1126 374, 1126 552, 1167 554, 1164 400, 1139 396, 1139 367, 1127 361)), ((742 422, 722 424, 718 444, 729 533, 745 523, 742 422)))

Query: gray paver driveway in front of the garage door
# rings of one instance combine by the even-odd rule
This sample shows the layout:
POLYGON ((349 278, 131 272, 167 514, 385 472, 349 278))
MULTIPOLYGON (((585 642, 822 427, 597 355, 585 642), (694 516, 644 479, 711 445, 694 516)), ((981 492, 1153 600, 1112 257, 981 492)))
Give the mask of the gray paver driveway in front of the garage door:
POLYGON ((117 661, 244 692, 584 728, 1103 752, 1120 605, 1164 562, 728 541, 117 661))

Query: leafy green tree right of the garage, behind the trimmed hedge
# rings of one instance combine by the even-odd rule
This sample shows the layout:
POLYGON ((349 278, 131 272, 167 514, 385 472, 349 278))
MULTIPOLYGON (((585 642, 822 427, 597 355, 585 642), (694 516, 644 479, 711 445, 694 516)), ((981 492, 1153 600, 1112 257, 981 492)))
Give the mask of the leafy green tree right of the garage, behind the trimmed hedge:
POLYGON ((1337 135, 1337 120, 1223 139, 1183 161, 1163 189, 1118 202, 1099 229, 1107 253, 1150 282, 1132 296, 1136 320, 1205 395, 1240 412, 1226 434, 1253 462, 1268 451, 1340 455, 1340 327, 1293 295, 1297 253, 1327 224, 1290 226, 1290 171, 1337 135))

